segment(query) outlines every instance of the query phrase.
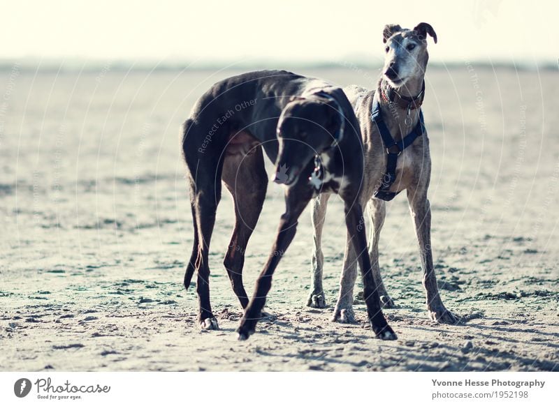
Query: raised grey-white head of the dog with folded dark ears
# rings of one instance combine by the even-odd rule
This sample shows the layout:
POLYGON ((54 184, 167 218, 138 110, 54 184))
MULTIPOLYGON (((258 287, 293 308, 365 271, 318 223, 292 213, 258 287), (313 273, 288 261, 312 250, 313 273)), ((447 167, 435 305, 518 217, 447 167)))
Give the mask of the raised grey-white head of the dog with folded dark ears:
POLYGON ((414 29, 402 29, 388 24, 382 31, 384 42, 384 68, 382 74, 389 84, 398 89, 411 77, 423 77, 427 68, 427 36, 437 43, 437 33, 430 24, 420 22, 414 29))

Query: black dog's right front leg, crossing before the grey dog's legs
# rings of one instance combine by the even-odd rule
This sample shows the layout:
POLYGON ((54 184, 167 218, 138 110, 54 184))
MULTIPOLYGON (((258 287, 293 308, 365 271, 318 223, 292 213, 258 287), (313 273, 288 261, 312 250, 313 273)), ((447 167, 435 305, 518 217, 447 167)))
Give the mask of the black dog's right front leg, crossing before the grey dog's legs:
POLYGON ((379 292, 377 292, 375 278, 372 276, 371 263, 367 251, 365 220, 363 219, 361 204, 356 203, 355 200, 346 201, 345 218, 347 232, 351 236, 351 241, 354 244, 357 259, 361 267, 361 275, 363 276, 363 296, 365 296, 367 314, 372 331, 375 331, 375 336, 382 340, 395 340, 397 337, 382 314, 379 292))

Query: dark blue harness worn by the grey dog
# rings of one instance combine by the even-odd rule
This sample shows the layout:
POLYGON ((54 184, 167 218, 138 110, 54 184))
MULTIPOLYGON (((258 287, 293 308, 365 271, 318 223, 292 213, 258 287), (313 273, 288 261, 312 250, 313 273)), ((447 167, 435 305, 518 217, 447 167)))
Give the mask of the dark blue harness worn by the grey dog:
MULTIPOLYGON (((398 98, 400 100, 398 100, 396 104, 402 107, 402 100, 407 102, 406 119, 408 119, 409 112, 411 110, 418 109, 421 106, 421 103, 423 102, 424 90, 425 90, 425 82, 423 82, 423 90, 421 90, 421 93, 419 93, 419 95, 414 98, 404 98, 398 95, 398 98)), ((380 92, 382 93, 382 89, 380 90, 380 92)), ((389 103, 395 103, 392 100, 393 97, 388 99, 386 98, 384 93, 381 94, 381 97, 385 98, 385 100, 389 101, 389 103)), ((400 193, 400 192, 390 191, 390 187, 393 185, 393 183, 396 180, 396 164, 398 163, 398 156, 400 156, 400 153, 402 153, 404 149, 412 145, 417 137, 421 137, 421 135, 423 135, 425 131, 425 124, 423 123, 423 112, 419 110, 419 121, 417 121, 416 126, 414 127, 411 133, 406 135, 400 141, 395 141, 393 139, 392 135, 390 134, 389 128, 386 126, 386 123, 384 123, 384 120, 382 119, 381 110, 380 110, 380 103, 377 98, 375 98, 375 101, 372 103, 371 120, 373 123, 377 125, 377 130, 379 131, 379 134, 382 137, 382 142, 384 144, 384 148, 387 155, 386 172, 382 174, 380 186, 377 190, 375 190, 374 197, 389 202, 395 197, 395 195, 398 195, 398 193, 400 193)))

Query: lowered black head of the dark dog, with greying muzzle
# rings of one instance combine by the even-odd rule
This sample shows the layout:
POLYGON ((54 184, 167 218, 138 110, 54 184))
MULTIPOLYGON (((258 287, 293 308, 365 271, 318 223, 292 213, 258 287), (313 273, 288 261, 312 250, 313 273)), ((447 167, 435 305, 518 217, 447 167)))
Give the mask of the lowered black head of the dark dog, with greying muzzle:
POLYGON ((295 183, 310 160, 333 145, 341 126, 335 100, 315 96, 291 100, 277 123, 279 153, 274 181, 288 186, 295 183))

